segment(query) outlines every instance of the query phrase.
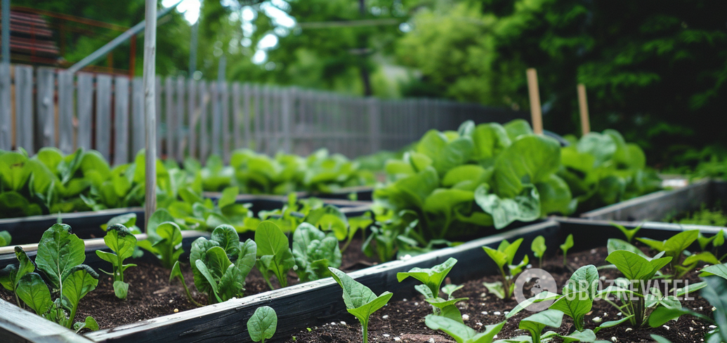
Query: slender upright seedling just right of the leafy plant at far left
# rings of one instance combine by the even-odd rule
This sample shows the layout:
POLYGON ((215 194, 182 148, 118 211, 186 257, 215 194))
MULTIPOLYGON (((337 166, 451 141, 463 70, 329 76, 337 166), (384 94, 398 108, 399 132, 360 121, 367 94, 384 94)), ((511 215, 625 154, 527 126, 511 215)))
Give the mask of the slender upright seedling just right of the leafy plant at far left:
POLYGON ((134 264, 124 265, 124 259, 132 257, 136 248, 137 239, 124 225, 114 224, 108 227, 103 238, 113 253, 97 250, 96 254, 100 259, 111 263, 112 273, 101 270, 103 273, 113 276, 113 293, 119 299, 126 299, 129 291, 129 283, 124 282, 124 270, 135 267, 134 264))

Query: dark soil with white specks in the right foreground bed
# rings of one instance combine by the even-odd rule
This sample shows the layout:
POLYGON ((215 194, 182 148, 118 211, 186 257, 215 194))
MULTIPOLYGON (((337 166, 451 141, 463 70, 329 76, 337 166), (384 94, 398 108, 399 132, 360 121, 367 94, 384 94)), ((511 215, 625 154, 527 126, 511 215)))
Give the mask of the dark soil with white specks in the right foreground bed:
MULTIPOLYGON (((606 248, 592 249, 589 251, 580 251, 569 255, 569 265, 577 268, 583 265, 606 265, 605 262, 608 252, 606 248)), ((652 254, 653 255, 653 254, 652 254)), ((537 262, 536 262, 537 265, 537 262)), ((454 266, 457 268, 457 265, 454 266)), ((544 261, 543 269, 553 275, 558 283, 558 291, 568 281, 572 272, 563 267, 563 257, 553 257, 544 261)), ((621 277, 618 270, 599 270, 601 277, 614 279, 621 277)), ((698 273, 689 273, 686 277, 690 283, 699 282, 698 273)), ((459 302, 458 307, 465 319, 465 324, 474 328, 476 331, 483 331, 486 325, 493 325, 505 320, 508 310, 513 309, 517 302, 515 299, 502 300, 496 296, 489 294, 483 287, 483 282, 498 281, 499 277, 489 275, 475 281, 464 283, 464 288, 456 291, 454 296, 469 297, 467 302, 459 302)), ((448 280, 449 282, 449 280, 448 280)), ((682 305, 696 312, 711 316, 712 306, 706 300, 699 296, 694 296, 694 300, 683 300, 682 305)), ((451 342, 454 339, 444 334, 442 331, 433 331, 427 328, 424 323, 426 315, 432 312, 430 304, 424 301, 423 296, 417 295, 414 299, 402 299, 392 301, 381 310, 371 315, 369 320, 369 342, 451 342)), ((522 311, 507 320, 502 331, 497 335, 497 339, 507 339, 514 336, 527 334, 526 331, 518 329, 518 323, 522 318, 531 315, 532 312, 522 311)), ((593 322, 593 318, 599 317, 604 322, 608 320, 618 320, 622 318, 614 307, 605 301, 598 301, 593 304, 593 310, 586 315, 586 328, 595 328, 597 323, 593 322)), ((546 328, 545 331, 557 331, 560 334, 568 334, 575 330, 571 318, 563 316, 563 325, 561 328, 546 328)), ((673 343, 679 342, 703 342, 704 334, 711 331, 709 324, 701 320, 684 316, 678 321, 670 321, 660 328, 631 328, 629 323, 623 323, 614 328, 605 328, 598 332, 598 339, 604 339, 609 342, 654 342, 649 336, 657 334, 664 336, 673 343)), ((545 332, 544 331, 544 332, 545 332)), ((345 315, 339 321, 326 323, 323 326, 303 330, 294 337, 279 338, 281 342, 310 342, 310 343, 358 343, 361 342, 361 326, 353 315, 345 315), (341 321, 342 320, 342 321, 341 321)), ((276 340, 278 339, 277 337, 276 340)))

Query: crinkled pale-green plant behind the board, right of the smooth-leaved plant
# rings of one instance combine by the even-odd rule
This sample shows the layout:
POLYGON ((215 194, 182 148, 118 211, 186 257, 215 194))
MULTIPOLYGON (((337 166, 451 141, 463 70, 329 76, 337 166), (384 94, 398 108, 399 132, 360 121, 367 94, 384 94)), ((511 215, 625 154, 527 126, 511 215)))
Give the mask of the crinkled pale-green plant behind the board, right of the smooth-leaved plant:
POLYGON ((293 233, 292 254, 301 282, 326 278, 328 267, 341 266, 341 250, 333 233, 326 235, 305 222, 293 233))

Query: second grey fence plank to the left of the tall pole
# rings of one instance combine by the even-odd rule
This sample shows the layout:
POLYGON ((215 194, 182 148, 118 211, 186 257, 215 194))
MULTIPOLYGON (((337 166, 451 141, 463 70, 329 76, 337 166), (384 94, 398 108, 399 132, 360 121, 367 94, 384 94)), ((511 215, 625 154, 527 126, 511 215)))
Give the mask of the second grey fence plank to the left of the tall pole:
POLYGON ((113 80, 113 165, 129 163, 129 77, 113 80))

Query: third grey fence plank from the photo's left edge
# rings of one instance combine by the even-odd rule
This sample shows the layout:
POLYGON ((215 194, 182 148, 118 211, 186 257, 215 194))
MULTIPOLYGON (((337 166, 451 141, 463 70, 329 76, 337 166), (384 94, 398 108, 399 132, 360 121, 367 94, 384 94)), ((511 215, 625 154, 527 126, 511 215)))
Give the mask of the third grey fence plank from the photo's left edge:
POLYGON ((55 147, 55 70, 41 67, 36 70, 36 145, 55 147))

